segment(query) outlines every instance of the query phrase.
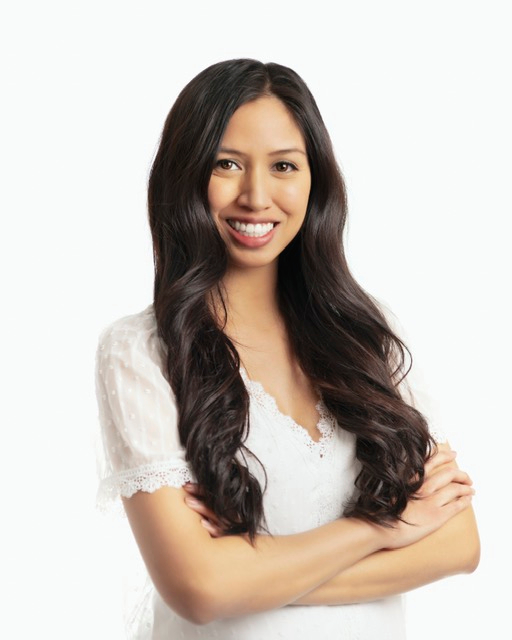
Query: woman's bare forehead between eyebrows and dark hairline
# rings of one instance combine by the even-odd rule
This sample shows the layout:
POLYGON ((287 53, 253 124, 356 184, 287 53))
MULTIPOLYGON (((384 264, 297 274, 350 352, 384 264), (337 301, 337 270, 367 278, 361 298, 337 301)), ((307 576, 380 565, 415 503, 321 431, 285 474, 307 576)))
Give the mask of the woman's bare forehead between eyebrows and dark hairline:
POLYGON ((273 96, 258 98, 239 107, 228 122, 222 146, 240 147, 246 152, 291 147, 306 150, 300 128, 281 100, 273 96))

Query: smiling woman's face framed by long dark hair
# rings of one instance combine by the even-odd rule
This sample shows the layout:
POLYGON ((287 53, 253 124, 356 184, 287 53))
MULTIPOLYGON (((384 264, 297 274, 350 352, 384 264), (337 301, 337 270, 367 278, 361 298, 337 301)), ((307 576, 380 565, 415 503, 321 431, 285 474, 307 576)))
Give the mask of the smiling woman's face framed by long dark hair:
POLYGON ((266 96, 239 107, 208 186, 230 267, 276 266, 304 222, 310 188, 304 138, 284 104, 266 96))

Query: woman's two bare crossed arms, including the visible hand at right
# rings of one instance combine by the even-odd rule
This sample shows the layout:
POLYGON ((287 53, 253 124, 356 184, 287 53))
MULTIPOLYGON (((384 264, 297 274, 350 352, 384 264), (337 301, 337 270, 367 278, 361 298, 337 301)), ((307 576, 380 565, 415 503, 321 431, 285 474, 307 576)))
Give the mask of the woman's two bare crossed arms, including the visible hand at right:
MULTIPOLYGON (((184 489, 124 500, 153 582, 167 604, 204 624, 290 604, 363 602, 426 584, 478 563, 473 490, 448 449, 429 463, 421 499, 386 529, 340 518, 290 536, 224 536, 184 489), (185 498, 186 499, 186 498, 185 498), (201 521, 204 525, 201 526, 201 521)), ((197 487, 188 487, 190 494, 197 487)))

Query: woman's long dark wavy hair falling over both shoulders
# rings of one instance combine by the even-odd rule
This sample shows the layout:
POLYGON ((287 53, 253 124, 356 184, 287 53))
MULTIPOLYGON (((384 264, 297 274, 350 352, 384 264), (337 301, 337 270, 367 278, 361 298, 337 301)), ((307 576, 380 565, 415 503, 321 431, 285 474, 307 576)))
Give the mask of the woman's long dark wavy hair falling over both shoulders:
POLYGON ((312 178, 304 224, 279 256, 281 313, 302 369, 341 428, 356 435, 361 471, 345 515, 391 524, 421 485, 434 443, 398 391, 407 349, 348 268, 346 190, 318 107, 304 81, 279 64, 228 60, 199 73, 173 105, 153 162, 154 309, 181 442, 206 504, 231 533, 253 540, 264 526, 264 487, 241 462, 252 455, 243 444, 249 397, 237 350, 212 312, 227 252, 207 190, 229 119, 264 95, 279 98, 302 131, 312 178))

